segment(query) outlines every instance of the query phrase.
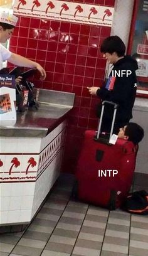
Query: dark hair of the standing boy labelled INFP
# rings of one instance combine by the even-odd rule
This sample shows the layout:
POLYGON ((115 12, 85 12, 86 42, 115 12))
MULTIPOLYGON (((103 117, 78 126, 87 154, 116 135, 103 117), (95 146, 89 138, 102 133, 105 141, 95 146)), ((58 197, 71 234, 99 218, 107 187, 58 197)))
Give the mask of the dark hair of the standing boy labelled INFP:
POLYGON ((100 51, 110 54, 115 52, 119 57, 122 57, 125 54, 125 45, 119 36, 109 36, 103 40, 100 51))

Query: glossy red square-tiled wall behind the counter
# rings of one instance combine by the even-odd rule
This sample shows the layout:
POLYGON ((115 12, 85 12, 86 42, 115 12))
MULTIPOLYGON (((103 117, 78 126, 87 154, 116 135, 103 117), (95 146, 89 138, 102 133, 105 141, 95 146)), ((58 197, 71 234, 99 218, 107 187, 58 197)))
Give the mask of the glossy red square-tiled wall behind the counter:
MULTIPOLYGON (((114 0, 75 2, 114 7, 114 0)), ((68 173, 75 173, 85 130, 97 129, 99 99, 89 95, 87 86, 103 83, 106 61, 100 45, 107 36, 110 28, 106 26, 20 17, 11 38, 11 51, 45 68, 46 80, 34 80, 36 87, 75 93, 63 161, 63 170, 68 173)))

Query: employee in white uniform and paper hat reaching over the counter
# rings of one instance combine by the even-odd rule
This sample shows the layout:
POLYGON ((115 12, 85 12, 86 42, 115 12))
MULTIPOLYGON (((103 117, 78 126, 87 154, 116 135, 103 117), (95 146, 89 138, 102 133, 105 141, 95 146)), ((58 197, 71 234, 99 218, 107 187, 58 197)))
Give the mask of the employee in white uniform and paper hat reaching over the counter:
POLYGON ((41 73, 41 79, 44 80, 46 78, 46 72, 39 63, 28 60, 21 55, 11 53, 11 51, 1 45, 1 43, 6 43, 13 35, 17 21, 18 18, 16 16, 0 12, 0 70, 3 68, 3 61, 7 60, 16 66, 36 68, 41 73))

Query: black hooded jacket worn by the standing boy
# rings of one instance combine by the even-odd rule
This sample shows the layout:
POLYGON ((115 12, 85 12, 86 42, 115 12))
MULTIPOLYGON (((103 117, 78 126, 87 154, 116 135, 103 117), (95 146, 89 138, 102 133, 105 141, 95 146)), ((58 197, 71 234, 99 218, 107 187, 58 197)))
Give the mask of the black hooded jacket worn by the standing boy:
MULTIPOLYGON (((117 110, 116 122, 122 122, 124 120, 130 120, 132 118, 132 108, 135 101, 136 89, 137 89, 137 78, 135 75, 135 70, 138 69, 137 61, 131 56, 124 56, 124 58, 118 60, 114 64, 112 72, 110 72, 109 77, 115 77, 113 90, 108 90, 105 85, 97 90, 97 95, 102 100, 108 100, 119 104, 117 110), (120 77, 115 72, 121 72, 121 70, 130 70, 132 73, 127 76, 127 74, 121 74, 120 77), (122 77, 121 77, 122 75, 122 77)), ((104 117, 106 119, 112 119, 112 107, 108 106, 105 110, 104 117)))

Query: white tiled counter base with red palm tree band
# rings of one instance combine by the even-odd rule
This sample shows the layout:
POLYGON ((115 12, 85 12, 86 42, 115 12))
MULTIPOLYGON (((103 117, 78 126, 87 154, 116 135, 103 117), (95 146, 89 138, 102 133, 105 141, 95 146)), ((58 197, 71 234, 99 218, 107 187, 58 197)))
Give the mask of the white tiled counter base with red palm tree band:
POLYGON ((66 121, 44 138, 0 137, 0 225, 28 223, 60 174, 66 121))

